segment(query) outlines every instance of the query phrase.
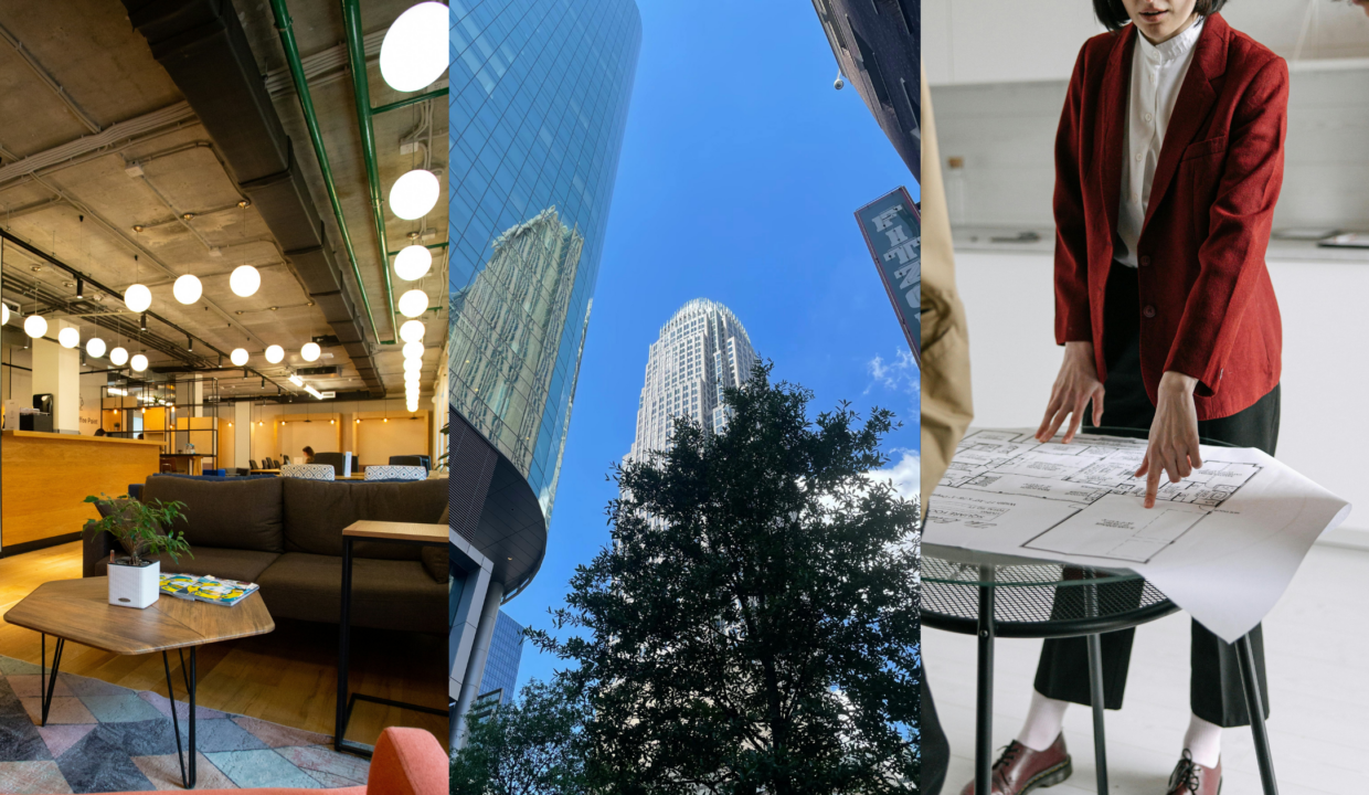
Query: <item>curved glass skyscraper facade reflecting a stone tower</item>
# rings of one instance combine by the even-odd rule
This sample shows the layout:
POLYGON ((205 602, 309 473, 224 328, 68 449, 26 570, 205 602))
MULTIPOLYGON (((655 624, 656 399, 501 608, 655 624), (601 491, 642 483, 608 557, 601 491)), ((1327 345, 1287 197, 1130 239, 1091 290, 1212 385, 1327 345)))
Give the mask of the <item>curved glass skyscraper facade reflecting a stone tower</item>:
POLYGON ((452 0, 450 695, 537 573, 637 70, 634 0, 452 0))

